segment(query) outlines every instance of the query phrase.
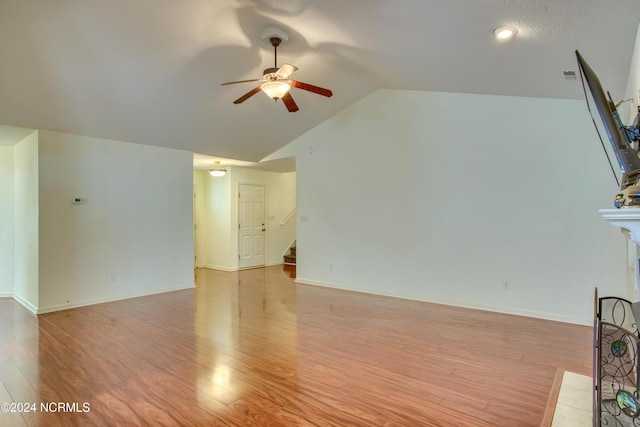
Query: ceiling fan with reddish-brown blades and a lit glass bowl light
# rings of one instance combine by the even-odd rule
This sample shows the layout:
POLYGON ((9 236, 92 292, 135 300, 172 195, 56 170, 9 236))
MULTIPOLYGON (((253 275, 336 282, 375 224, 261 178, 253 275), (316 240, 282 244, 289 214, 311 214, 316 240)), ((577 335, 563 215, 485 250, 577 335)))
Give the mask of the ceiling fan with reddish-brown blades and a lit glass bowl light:
POLYGON ((236 83, 262 82, 260 86, 251 89, 249 92, 233 101, 234 104, 241 104, 256 93, 262 91, 271 99, 282 99, 287 110, 289 110, 290 113, 294 113, 298 111, 298 105, 289 93, 289 90, 292 87, 317 93, 318 95, 326 97, 333 95, 333 92, 329 89, 310 85, 308 83, 302 83, 297 80, 291 80, 289 77, 298 70, 298 67, 291 64, 284 64, 282 67, 278 68, 278 46, 282 43, 283 38, 287 40, 286 34, 276 31, 276 34, 267 35, 266 37, 269 38, 269 42, 271 42, 271 46, 273 46, 273 68, 267 68, 264 70, 262 78, 260 79, 238 80, 235 82, 222 83, 222 86, 225 86, 236 83))

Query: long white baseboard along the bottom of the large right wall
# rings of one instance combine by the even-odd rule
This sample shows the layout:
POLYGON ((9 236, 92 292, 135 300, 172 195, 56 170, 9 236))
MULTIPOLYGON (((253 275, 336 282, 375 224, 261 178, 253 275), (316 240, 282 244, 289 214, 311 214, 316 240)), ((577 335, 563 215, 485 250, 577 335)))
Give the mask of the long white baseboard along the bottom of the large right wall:
POLYGON ((392 297, 392 298, 408 299, 412 301, 423 301, 423 302, 428 302, 432 304, 450 305, 453 307, 463 307, 463 308, 470 308, 474 310, 491 311, 494 313, 511 314, 514 316, 533 317, 536 319, 552 320, 555 322, 573 323, 573 324, 584 325, 584 326, 593 326, 593 319, 584 319, 584 318, 578 318, 578 317, 572 317, 572 316, 562 316, 555 313, 547 313, 544 311, 512 309, 507 307, 442 300, 438 298, 426 298, 422 296, 407 295, 407 294, 400 294, 400 293, 393 293, 393 292, 376 292, 371 289, 354 288, 350 286, 340 285, 337 283, 318 282, 316 280, 304 279, 301 277, 296 277, 295 283, 298 283, 301 285, 341 289, 344 291, 351 291, 351 292, 360 292, 360 293, 370 294, 370 295, 379 295, 379 296, 392 297))

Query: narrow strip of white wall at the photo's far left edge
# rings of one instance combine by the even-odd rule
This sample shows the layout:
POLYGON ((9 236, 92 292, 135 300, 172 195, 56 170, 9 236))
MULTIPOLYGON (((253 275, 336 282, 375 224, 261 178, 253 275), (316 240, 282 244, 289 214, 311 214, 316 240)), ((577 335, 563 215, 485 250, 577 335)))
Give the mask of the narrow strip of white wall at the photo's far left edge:
POLYGON ((14 178, 13 146, 0 146, 0 297, 13 295, 14 178))

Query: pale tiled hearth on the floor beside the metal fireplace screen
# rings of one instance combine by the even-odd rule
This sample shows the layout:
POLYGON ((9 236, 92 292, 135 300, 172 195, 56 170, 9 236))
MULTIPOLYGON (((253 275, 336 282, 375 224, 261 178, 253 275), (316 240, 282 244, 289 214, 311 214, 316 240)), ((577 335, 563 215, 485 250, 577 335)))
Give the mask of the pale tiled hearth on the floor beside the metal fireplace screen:
POLYGON ((593 380, 565 371, 552 427, 584 427, 592 423, 593 380))

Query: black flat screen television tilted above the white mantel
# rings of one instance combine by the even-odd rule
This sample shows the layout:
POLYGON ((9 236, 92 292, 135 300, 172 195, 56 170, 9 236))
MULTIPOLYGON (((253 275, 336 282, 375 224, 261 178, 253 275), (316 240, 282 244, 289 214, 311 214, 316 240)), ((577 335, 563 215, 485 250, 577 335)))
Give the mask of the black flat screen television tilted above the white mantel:
MULTIPOLYGON (((636 187, 638 180, 640 180, 640 158, 638 157, 638 152, 632 148, 629 135, 620 122, 616 106, 611 98, 605 95, 598 76, 577 50, 576 58, 580 66, 580 73, 587 82, 591 97, 622 171, 620 189, 626 190, 625 193, 627 193, 626 196, 631 205, 640 204, 640 188, 636 187), (632 186, 633 188, 628 188, 632 186)), ((588 102, 589 100, 587 99, 588 102)))

